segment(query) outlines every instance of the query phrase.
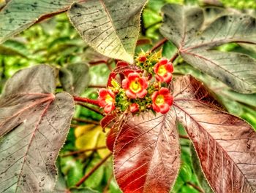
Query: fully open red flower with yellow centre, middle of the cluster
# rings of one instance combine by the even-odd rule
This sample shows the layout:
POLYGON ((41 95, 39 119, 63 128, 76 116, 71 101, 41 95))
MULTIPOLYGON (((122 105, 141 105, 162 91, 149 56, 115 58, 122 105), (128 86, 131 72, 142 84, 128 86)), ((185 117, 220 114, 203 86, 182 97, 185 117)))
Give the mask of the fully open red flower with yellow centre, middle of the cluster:
POLYGON ((148 81, 137 72, 132 72, 122 81, 122 87, 129 98, 143 98, 148 92, 148 81))

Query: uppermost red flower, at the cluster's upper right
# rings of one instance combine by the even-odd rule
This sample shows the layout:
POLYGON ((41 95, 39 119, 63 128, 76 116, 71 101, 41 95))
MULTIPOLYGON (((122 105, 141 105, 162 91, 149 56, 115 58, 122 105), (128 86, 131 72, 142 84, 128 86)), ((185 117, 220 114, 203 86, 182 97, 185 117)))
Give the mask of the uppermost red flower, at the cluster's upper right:
POLYGON ((162 58, 159 60, 159 63, 154 66, 154 72, 159 82, 169 83, 173 78, 173 64, 169 63, 166 58, 162 58))

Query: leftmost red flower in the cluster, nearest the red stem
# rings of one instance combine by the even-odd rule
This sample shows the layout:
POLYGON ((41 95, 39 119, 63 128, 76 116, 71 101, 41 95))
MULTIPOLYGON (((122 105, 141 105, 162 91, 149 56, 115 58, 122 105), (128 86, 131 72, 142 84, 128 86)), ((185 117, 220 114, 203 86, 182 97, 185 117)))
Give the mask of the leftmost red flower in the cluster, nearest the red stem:
POLYGON ((115 109, 115 94, 110 89, 100 89, 97 101, 99 106, 104 107, 104 111, 107 114, 115 109))

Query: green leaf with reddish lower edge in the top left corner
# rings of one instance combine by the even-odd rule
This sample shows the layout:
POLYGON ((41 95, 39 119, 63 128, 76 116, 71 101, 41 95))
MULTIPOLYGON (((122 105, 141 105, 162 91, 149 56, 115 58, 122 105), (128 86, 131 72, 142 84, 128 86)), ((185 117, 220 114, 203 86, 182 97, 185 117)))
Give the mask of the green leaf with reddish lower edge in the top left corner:
POLYGON ((12 0, 0 11, 0 44, 42 17, 67 10, 72 0, 12 0))

